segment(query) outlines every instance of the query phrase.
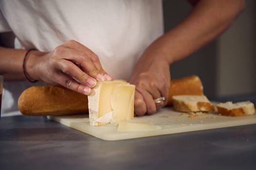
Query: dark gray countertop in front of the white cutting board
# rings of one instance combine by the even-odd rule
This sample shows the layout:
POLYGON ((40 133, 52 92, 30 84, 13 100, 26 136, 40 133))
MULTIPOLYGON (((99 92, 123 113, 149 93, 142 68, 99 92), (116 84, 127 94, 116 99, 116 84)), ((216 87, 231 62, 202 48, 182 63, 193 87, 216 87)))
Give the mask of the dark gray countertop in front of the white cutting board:
POLYGON ((45 117, 0 120, 0 170, 256 170, 256 124, 104 141, 45 117))

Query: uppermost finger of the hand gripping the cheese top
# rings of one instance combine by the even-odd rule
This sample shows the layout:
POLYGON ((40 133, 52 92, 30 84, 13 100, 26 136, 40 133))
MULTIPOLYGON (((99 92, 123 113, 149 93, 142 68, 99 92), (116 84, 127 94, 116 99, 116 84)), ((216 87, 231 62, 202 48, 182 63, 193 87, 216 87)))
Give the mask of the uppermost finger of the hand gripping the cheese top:
MULTIPOLYGON (((113 77, 110 76, 101 66, 99 57, 93 52, 91 51, 91 49, 87 48, 86 46, 82 45, 81 43, 74 41, 74 40, 70 40, 68 42, 66 42, 64 44, 64 46, 67 46, 69 48, 84 52, 87 56, 89 56, 89 58, 91 59, 91 62, 93 63, 94 67, 98 70, 98 72, 103 75, 105 77, 105 79, 107 80, 112 80, 113 77)), ((101 79, 103 79, 102 77, 100 77, 101 79)), ((103 80, 101 80, 103 81, 103 80)))

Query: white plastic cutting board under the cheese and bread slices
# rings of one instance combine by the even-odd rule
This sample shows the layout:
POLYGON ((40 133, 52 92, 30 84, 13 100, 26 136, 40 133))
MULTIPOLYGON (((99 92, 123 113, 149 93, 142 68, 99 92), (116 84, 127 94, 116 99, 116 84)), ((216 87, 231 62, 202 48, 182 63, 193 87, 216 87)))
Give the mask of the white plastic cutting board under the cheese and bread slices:
POLYGON ((103 140, 122 140, 146 136, 157 136, 189 131, 255 124, 256 115, 243 117, 219 116, 218 113, 209 113, 196 119, 188 117, 187 113, 176 112, 172 107, 165 107, 151 116, 135 117, 131 122, 152 123, 161 129, 145 132, 117 132, 117 125, 90 126, 88 114, 73 116, 50 116, 61 124, 72 127, 91 136, 103 140))

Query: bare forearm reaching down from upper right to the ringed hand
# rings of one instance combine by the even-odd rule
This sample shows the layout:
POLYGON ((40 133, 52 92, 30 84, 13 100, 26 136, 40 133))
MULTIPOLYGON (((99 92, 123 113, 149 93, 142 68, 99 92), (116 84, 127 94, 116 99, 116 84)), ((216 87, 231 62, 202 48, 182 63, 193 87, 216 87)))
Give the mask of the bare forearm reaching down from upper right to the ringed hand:
POLYGON ((175 28, 154 41, 146 53, 170 64, 183 59, 225 31, 244 8, 244 0, 200 0, 175 28))

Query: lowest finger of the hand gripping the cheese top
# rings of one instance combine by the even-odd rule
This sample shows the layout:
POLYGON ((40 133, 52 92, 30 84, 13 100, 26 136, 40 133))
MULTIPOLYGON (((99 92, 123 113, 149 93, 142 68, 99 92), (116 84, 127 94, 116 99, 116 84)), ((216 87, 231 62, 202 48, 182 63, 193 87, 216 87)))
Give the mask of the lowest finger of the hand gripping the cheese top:
POLYGON ((85 95, 90 95, 92 89, 88 86, 82 85, 76 81, 74 81, 71 77, 63 74, 63 73, 59 73, 55 76, 55 81, 58 82, 58 84, 67 87, 73 91, 76 91, 78 93, 82 93, 85 95))

